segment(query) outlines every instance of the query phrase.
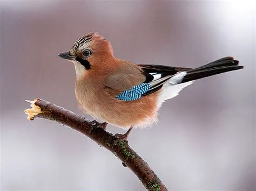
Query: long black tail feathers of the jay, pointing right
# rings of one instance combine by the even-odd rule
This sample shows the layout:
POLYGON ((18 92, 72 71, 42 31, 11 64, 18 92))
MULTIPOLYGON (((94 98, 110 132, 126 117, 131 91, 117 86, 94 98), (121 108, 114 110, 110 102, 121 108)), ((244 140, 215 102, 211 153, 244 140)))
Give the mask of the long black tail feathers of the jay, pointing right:
POLYGON ((239 61, 234 60, 233 57, 225 57, 214 62, 208 63, 207 65, 200 66, 198 68, 187 70, 187 74, 181 83, 198 80, 203 77, 208 77, 232 70, 244 68, 244 66, 238 66, 239 61))

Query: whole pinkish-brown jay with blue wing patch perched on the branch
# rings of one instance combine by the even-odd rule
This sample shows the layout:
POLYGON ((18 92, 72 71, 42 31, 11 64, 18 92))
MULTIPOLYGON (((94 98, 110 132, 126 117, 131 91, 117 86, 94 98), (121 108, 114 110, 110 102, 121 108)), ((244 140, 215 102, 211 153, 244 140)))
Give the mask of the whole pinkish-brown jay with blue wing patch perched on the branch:
POLYGON ((75 95, 86 114, 128 129, 118 139, 127 139, 132 128, 157 122, 161 105, 195 80, 242 69, 232 56, 197 68, 144 65, 115 58, 109 40, 90 32, 58 56, 75 66, 75 95))

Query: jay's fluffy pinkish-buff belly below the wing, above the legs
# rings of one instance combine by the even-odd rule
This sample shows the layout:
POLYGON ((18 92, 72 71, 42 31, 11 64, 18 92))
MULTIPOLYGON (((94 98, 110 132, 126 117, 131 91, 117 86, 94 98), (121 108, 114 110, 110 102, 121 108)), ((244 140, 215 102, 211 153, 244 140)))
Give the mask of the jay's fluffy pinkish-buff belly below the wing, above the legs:
MULTIPOLYGON (((121 128, 151 125, 157 120, 157 94, 136 101, 120 101, 112 97, 95 97, 93 101, 80 103, 87 114, 121 128)), ((85 99, 86 100, 86 99, 85 99)))

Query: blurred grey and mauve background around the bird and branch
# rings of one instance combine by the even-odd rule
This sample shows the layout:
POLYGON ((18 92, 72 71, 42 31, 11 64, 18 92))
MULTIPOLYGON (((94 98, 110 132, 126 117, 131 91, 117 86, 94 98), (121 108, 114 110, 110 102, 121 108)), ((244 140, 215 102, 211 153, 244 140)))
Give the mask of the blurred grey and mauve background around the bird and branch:
POLYGON ((223 56, 240 60, 244 69, 198 80, 167 101, 159 123, 133 130, 129 142, 170 190, 256 190, 253 5, 1 1, 1 189, 144 190, 103 147, 23 113, 24 100, 40 97, 82 114, 73 65, 57 54, 98 31, 117 58, 135 63, 197 67, 223 56))

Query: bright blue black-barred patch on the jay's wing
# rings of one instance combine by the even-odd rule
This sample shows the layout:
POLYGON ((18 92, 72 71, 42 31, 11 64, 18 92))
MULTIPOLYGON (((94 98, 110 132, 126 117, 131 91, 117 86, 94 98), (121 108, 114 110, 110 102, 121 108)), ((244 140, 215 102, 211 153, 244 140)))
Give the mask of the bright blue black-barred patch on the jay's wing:
POLYGON ((144 93, 149 91, 150 88, 151 85, 149 83, 140 83, 138 86, 133 86, 129 90, 122 91, 122 93, 116 97, 122 101, 138 100, 144 93))

